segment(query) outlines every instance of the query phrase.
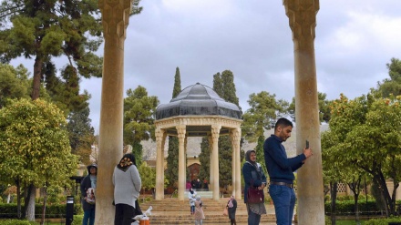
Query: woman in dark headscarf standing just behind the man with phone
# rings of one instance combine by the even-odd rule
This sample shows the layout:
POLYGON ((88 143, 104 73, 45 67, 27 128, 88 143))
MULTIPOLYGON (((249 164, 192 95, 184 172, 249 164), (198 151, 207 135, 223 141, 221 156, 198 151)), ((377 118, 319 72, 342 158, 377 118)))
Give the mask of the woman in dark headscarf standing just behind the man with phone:
POLYGON ((264 189, 264 187, 266 187, 266 177, 264 176, 261 164, 256 162, 255 150, 248 150, 245 153, 245 160, 246 162, 242 167, 242 175, 245 181, 245 194, 243 199, 248 210, 248 225, 258 225, 261 221, 261 215, 266 214, 264 202, 249 203, 247 193, 251 185, 258 189, 264 189))

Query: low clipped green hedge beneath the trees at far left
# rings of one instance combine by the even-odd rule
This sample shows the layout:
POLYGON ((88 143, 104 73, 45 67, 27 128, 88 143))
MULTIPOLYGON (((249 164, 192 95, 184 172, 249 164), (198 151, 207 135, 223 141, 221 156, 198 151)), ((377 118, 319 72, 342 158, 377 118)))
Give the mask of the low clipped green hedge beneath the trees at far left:
MULTIPOLYGON (((35 218, 42 217, 42 205, 36 204, 35 205, 35 218)), ((24 206, 21 206, 21 210, 24 206)), ((46 206, 46 218, 65 218, 66 217, 66 208, 67 205, 63 204, 53 204, 46 206)), ((16 216, 16 204, 0 204, 0 218, 17 218, 16 216)), ((81 212, 80 204, 74 204, 74 214, 79 214, 81 212)))

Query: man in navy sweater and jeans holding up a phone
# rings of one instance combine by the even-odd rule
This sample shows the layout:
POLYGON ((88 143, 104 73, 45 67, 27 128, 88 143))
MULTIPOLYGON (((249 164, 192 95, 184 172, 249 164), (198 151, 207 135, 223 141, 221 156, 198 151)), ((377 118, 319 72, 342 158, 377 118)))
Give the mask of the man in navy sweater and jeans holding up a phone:
POLYGON ((279 118, 274 126, 274 134, 266 138, 263 145, 264 161, 270 178, 269 193, 272 197, 277 225, 291 225, 295 193, 293 191, 293 172, 303 166, 312 156, 311 148, 303 148, 303 153, 287 158, 283 141, 291 137, 293 123, 287 118, 279 118))

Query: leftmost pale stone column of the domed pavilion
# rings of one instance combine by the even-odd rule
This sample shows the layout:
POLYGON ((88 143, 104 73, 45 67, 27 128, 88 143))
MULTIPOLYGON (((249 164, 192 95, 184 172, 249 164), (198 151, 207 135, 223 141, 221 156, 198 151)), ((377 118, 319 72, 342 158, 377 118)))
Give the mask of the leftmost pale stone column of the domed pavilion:
POLYGON ((164 199, 164 143, 166 132, 156 128, 156 196, 155 199, 164 199))

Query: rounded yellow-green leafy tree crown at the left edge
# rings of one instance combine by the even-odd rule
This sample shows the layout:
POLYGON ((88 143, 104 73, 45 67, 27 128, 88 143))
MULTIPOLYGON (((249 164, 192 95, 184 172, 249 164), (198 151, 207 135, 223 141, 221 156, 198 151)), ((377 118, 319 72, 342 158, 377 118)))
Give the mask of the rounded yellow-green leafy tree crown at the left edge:
POLYGON ((63 113, 42 99, 12 100, 0 109, 0 177, 18 189, 64 187, 77 169, 66 125, 63 113))

